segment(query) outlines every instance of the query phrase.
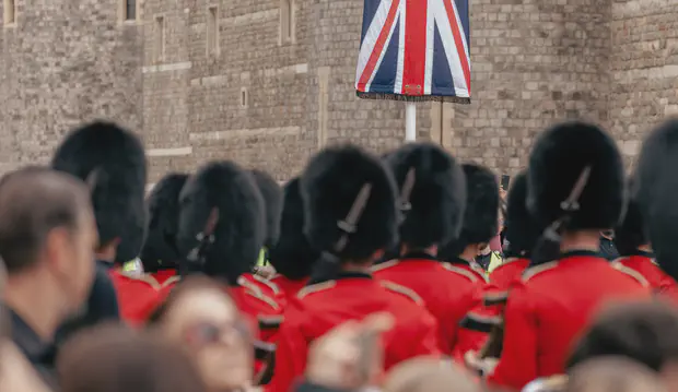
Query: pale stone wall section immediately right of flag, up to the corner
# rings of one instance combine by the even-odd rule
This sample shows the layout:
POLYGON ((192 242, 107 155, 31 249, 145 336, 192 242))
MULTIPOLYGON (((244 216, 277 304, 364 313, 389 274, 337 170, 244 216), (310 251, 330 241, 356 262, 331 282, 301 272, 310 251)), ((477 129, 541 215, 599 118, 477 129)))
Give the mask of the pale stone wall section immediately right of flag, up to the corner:
POLYGON ((472 104, 449 108, 457 156, 514 173, 552 122, 607 126, 610 0, 471 3, 472 104))

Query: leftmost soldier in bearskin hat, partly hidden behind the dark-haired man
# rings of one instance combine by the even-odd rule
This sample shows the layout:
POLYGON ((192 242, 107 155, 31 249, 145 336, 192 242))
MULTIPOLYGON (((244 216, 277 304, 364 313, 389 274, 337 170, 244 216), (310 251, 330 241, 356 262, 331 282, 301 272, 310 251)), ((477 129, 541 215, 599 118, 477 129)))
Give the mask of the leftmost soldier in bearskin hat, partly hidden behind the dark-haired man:
MULTIPOLYGON (((144 240, 147 161, 143 144, 132 132, 114 123, 94 122, 75 130, 63 141, 51 166, 83 179, 92 189, 100 237, 97 269, 108 271, 120 317, 129 322, 139 321, 139 312, 143 310, 139 309, 139 304, 153 298, 156 287, 120 268, 139 256, 144 240)), ((93 295, 96 293, 95 283, 93 295)), ((97 312, 107 307, 91 301, 87 311, 97 312)), ((86 318, 96 319, 91 314, 86 318)))

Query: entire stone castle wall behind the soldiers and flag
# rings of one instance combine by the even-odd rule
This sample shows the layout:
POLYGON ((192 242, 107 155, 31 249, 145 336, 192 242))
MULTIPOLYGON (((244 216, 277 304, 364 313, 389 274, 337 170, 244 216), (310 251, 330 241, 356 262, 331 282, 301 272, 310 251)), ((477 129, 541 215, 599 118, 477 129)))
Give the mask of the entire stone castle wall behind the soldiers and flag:
MULTIPOLYGON (((140 133, 152 182, 222 158, 285 180, 328 143, 383 152, 402 142, 402 103, 354 95, 362 0, 293 0, 290 43, 282 0, 143 0, 136 22, 120 22, 119 0, 15 1, 16 25, 0 29, 2 171, 46 162, 93 118, 140 133), (218 56, 206 36, 214 5, 218 56)), ((420 104, 421 140, 514 173, 540 130, 586 118, 613 133, 631 166, 644 132, 678 112, 675 0, 471 5, 474 103, 420 104)))

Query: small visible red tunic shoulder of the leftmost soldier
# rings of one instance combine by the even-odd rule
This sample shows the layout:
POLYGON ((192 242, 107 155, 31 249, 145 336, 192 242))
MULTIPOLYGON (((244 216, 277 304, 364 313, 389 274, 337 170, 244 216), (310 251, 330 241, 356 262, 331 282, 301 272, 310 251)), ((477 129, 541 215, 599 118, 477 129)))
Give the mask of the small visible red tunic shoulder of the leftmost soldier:
POLYGON ((132 276, 117 270, 109 270, 116 290, 120 318, 130 325, 140 325, 155 308, 160 296, 160 284, 150 275, 132 276))

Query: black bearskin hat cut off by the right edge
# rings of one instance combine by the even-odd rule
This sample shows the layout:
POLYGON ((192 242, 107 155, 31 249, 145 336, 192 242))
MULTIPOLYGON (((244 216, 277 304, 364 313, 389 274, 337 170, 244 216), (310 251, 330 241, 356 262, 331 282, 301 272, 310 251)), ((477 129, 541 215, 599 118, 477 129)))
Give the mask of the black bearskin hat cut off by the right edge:
POLYGON ((678 278, 678 119, 654 130, 643 143, 632 193, 645 221, 657 262, 678 278))

